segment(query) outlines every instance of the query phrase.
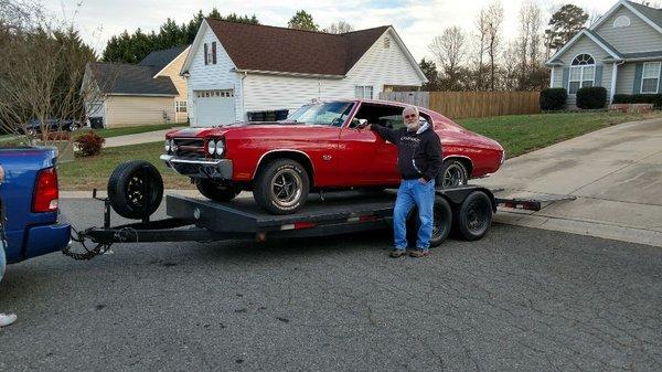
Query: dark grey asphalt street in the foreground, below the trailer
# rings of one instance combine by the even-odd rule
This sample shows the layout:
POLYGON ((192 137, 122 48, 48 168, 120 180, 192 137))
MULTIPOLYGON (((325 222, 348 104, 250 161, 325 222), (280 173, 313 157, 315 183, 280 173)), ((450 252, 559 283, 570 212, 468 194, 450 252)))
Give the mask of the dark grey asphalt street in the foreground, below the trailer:
MULTIPOLYGON (((99 202, 62 204, 102 223, 99 202)), ((0 370, 662 370, 660 248, 500 224, 424 259, 389 247, 378 232, 11 265, 0 370)))

